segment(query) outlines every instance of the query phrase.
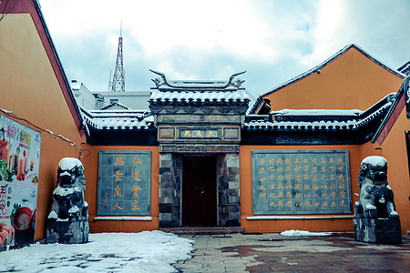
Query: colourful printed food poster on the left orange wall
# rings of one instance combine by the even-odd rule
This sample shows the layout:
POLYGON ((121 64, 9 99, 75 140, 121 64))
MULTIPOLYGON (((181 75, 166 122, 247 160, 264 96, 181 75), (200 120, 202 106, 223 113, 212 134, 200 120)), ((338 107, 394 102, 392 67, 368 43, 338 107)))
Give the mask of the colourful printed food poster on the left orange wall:
POLYGON ((0 249, 34 242, 41 134, 0 115, 0 249))

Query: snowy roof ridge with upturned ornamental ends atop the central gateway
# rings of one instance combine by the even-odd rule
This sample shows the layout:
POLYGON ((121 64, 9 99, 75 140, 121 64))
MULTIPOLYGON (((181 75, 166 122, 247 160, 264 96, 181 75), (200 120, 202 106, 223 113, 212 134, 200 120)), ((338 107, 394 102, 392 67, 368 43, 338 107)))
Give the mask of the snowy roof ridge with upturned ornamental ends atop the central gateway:
POLYGON ((168 81, 165 74, 159 71, 155 71, 149 69, 150 72, 159 75, 159 78, 151 79, 155 86, 159 88, 160 86, 168 86, 171 88, 178 88, 178 89, 192 89, 192 88, 205 88, 205 89, 226 89, 230 86, 239 89, 241 85, 245 82, 245 80, 235 79, 235 76, 240 76, 244 74, 246 71, 242 71, 240 73, 235 73, 230 76, 229 81, 168 81), (207 86, 205 86, 207 85, 207 86))

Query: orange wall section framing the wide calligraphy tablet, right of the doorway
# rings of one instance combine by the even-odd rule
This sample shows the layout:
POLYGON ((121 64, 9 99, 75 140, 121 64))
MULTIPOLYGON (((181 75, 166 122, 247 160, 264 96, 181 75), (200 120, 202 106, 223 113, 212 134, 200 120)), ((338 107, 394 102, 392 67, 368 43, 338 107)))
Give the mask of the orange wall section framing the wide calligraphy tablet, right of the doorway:
MULTIPOLYGON (((245 232, 282 232, 288 229, 302 229, 309 231, 353 231, 353 219, 305 219, 305 220, 248 220, 252 213, 252 175, 251 151, 252 150, 349 150, 350 177, 352 181, 352 203, 358 200, 354 193, 359 193, 357 185, 361 163, 360 146, 241 146, 240 150, 240 176, 241 176, 241 227, 245 232)), ((277 215, 275 215, 277 216, 277 215)), ((283 215, 284 216, 284 215, 283 215)), ((289 216, 289 215, 287 215, 289 216)), ((334 216, 334 215, 298 215, 309 216, 334 216)), ((346 216, 346 215, 342 215, 346 216)), ((351 215, 353 216, 353 214, 351 215)))

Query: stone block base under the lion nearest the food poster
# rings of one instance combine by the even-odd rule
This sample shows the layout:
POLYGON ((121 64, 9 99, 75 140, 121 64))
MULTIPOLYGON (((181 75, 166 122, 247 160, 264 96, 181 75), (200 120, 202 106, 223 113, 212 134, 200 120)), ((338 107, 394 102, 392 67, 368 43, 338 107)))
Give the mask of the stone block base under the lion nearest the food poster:
POLYGON ((46 243, 82 244, 87 243, 89 233, 88 219, 62 221, 58 218, 47 219, 46 243))

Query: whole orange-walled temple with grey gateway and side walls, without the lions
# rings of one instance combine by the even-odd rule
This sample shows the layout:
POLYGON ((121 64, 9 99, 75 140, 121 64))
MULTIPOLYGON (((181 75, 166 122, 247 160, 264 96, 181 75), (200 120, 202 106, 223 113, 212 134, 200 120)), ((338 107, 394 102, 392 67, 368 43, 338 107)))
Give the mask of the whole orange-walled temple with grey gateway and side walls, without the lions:
POLYGON ((113 101, 92 110, 76 103, 35 1, 16 3, 0 23, 0 63, 0 87, 13 91, 0 102, 0 205, 12 200, 0 224, 15 225, 15 204, 29 207, 36 240, 62 157, 84 166, 91 233, 353 231, 368 156, 387 159, 402 234, 410 230, 409 78, 359 45, 254 103, 243 72, 185 81, 152 70, 149 109, 113 101))

